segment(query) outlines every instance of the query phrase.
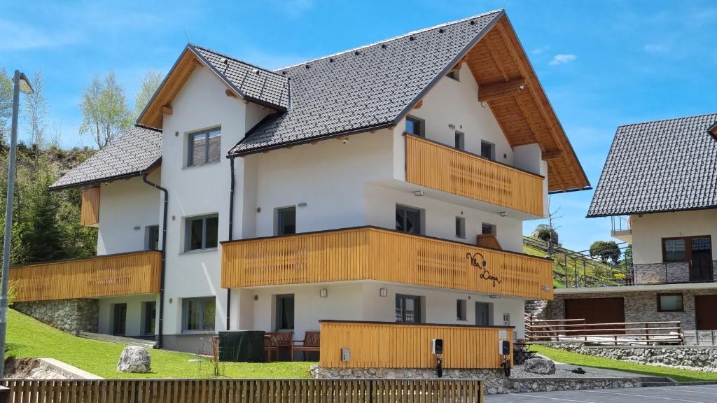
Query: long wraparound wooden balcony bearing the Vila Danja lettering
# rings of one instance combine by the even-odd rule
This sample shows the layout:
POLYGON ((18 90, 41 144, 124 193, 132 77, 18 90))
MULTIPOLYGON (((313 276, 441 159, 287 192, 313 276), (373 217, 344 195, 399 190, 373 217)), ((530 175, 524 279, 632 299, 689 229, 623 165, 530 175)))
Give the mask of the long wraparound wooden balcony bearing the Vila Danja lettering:
POLYGON ((351 280, 553 298, 551 260, 389 229, 222 242, 222 288, 351 280))

